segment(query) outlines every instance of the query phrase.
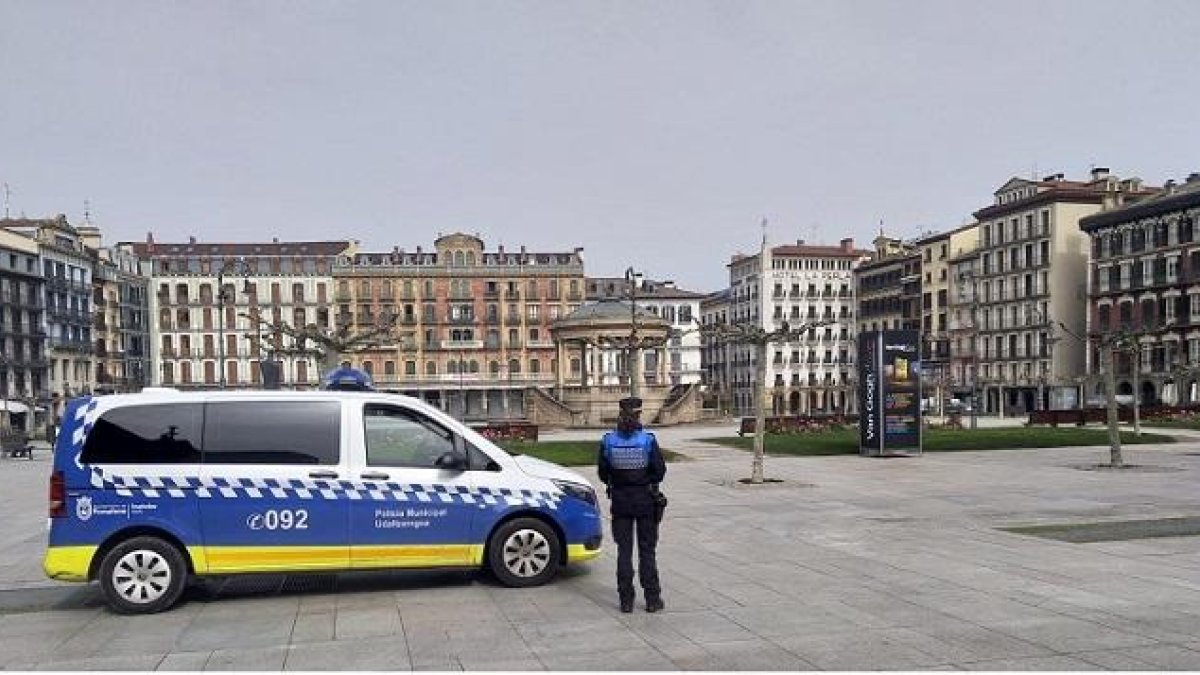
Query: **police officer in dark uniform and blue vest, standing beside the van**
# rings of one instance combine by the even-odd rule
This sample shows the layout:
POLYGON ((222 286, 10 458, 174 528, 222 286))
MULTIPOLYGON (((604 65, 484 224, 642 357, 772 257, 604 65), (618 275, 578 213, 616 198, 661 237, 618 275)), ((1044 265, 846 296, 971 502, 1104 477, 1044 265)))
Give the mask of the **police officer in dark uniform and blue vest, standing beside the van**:
POLYGON ((620 610, 634 611, 634 533, 637 533, 637 575, 646 611, 659 611, 662 589, 654 548, 659 543, 658 484, 667 466, 654 435, 642 429, 642 400, 622 399, 617 430, 604 435, 596 461, 600 480, 612 501, 612 536, 617 540, 617 593, 620 610))

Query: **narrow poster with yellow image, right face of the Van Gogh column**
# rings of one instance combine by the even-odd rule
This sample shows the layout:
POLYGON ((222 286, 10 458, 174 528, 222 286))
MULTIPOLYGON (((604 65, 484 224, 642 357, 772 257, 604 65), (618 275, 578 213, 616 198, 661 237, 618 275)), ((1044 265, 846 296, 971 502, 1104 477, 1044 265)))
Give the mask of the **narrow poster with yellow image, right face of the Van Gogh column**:
POLYGON ((920 452, 920 334, 882 331, 883 448, 920 452))

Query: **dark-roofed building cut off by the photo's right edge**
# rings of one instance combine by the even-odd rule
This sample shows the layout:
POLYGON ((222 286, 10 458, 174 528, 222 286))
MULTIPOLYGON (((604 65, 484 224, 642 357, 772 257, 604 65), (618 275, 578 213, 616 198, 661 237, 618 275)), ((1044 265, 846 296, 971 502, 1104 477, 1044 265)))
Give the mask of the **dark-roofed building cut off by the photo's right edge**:
MULTIPOLYGON (((1116 393, 1142 405, 1200 401, 1200 173, 1153 197, 1080 220, 1091 240, 1088 334, 1127 334, 1116 393)), ((1104 399, 1099 345, 1088 346, 1087 399, 1104 399)))

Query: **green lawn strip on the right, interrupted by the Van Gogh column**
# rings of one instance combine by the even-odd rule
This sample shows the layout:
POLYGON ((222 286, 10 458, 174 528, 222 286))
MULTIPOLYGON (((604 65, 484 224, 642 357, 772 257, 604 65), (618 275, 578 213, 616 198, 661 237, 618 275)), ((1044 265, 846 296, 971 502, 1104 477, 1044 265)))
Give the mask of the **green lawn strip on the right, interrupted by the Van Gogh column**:
MULTIPOLYGON (((754 436, 703 438, 704 442, 749 450, 754 436)), ((1121 434, 1121 442, 1174 443, 1175 438, 1160 434, 1135 436, 1121 434)), ((925 452, 998 450, 1018 448, 1061 448, 1072 446, 1106 446, 1106 429, 1054 429, 1013 426, 1006 429, 929 429, 925 431, 925 452)), ((852 455, 858 454, 858 429, 840 429, 817 434, 768 434, 766 452, 770 455, 852 455)))

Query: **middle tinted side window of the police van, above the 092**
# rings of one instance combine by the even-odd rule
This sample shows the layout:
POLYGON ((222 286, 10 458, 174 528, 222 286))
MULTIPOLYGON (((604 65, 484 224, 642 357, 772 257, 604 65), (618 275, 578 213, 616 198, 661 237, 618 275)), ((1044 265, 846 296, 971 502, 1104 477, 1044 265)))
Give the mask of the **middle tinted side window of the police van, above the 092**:
POLYGON ((204 464, 336 465, 342 447, 338 401, 208 404, 204 464))

